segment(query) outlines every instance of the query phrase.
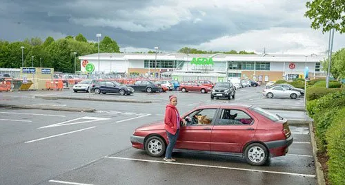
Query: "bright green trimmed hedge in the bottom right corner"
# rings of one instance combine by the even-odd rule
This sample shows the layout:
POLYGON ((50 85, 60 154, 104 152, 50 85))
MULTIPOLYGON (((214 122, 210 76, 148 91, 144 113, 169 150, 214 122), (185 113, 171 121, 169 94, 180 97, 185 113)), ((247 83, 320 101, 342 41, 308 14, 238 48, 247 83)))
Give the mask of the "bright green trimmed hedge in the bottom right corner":
POLYGON ((326 132, 328 179, 331 184, 345 184, 345 108, 339 110, 326 132))

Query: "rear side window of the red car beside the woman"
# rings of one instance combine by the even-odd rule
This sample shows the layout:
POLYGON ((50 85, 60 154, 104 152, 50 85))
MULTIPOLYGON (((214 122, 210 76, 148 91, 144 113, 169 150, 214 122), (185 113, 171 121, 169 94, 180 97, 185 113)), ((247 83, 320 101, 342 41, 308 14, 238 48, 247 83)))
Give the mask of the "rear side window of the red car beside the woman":
POLYGON ((216 125, 242 125, 253 124, 253 118, 247 113, 237 109, 223 109, 216 125))

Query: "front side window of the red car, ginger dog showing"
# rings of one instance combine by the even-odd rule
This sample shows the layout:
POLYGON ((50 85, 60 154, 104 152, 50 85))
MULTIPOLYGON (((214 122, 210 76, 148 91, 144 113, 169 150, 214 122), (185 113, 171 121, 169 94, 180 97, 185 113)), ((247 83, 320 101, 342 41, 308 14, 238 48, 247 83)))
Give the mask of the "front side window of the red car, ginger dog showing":
POLYGON ((197 127, 200 125, 213 124, 216 113, 217 109, 198 109, 193 111, 185 117, 187 121, 186 126, 197 127))

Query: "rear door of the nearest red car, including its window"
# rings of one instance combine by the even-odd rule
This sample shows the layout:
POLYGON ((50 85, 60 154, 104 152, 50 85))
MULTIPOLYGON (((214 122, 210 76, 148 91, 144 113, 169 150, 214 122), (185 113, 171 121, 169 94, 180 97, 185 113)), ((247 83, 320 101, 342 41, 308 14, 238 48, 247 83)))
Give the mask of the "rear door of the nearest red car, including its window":
POLYGON ((256 118, 245 109, 219 109, 210 140, 211 152, 242 153, 253 140, 256 118))

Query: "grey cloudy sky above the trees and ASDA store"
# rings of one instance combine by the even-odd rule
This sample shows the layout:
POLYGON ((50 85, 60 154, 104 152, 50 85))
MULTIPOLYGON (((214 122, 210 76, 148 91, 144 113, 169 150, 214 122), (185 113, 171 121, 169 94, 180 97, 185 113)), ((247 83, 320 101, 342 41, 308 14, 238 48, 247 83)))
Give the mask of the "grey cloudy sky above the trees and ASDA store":
MULTIPOLYGON (((312 30, 304 0, 1 0, 0 40, 110 36, 127 52, 246 50, 319 54, 328 33, 312 30)), ((345 47, 335 34, 333 50, 345 47)))

